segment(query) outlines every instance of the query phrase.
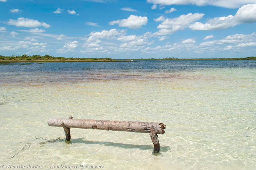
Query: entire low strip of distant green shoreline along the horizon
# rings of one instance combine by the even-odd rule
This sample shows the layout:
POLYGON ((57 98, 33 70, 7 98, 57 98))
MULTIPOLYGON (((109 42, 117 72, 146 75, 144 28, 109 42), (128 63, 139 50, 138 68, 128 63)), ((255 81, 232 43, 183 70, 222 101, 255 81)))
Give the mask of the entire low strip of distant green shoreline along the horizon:
POLYGON ((177 59, 174 57, 166 57, 163 59, 111 59, 109 57, 100 58, 78 58, 78 57, 52 57, 50 55, 0 55, 0 63, 27 63, 27 62, 126 62, 126 61, 139 61, 139 60, 256 60, 256 57, 244 58, 218 58, 218 59, 177 59))

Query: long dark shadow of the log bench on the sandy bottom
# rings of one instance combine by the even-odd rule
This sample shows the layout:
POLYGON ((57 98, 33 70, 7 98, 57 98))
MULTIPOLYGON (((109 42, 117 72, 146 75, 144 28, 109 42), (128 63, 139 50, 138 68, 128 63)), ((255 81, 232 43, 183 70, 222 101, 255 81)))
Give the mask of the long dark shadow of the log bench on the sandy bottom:
MULTIPOLYGON (((124 144, 124 143, 114 143, 114 142, 104 142, 104 141, 87 141, 84 138, 72 139, 71 143, 84 143, 89 145, 104 145, 108 147, 119 147, 124 149, 140 149, 140 150, 152 150, 152 145, 134 145, 134 144, 124 144)), ((167 152, 170 150, 168 146, 161 146, 161 152, 167 152)))

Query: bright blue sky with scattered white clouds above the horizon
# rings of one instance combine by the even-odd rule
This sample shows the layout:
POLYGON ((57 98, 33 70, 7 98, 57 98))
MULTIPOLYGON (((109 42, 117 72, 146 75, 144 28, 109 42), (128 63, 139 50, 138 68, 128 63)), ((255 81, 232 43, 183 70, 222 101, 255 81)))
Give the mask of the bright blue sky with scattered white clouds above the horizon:
POLYGON ((256 0, 0 0, 0 55, 256 56, 256 0))

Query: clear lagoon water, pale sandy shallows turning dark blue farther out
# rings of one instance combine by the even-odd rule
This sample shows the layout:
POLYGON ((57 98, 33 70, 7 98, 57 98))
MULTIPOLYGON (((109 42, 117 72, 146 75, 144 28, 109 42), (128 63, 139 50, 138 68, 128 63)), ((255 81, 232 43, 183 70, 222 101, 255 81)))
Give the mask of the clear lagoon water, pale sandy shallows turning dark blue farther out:
POLYGON ((0 72, 0 164, 256 169, 255 61, 0 64, 0 72), (69 116, 162 122, 160 154, 144 133, 72 128, 66 144, 47 119, 69 116))

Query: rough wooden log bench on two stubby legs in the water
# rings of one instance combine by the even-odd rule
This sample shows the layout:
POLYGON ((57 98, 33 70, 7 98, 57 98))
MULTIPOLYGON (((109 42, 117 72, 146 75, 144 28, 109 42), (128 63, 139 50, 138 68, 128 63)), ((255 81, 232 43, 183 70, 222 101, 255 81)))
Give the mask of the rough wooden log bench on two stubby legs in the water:
POLYGON ((73 119, 72 116, 70 116, 69 119, 50 118, 47 123, 49 126, 63 127, 66 135, 66 141, 70 141, 71 139, 70 128, 149 133, 154 144, 153 153, 160 152, 158 134, 164 134, 165 129, 165 125, 163 123, 73 119))

